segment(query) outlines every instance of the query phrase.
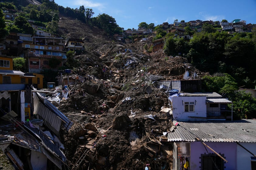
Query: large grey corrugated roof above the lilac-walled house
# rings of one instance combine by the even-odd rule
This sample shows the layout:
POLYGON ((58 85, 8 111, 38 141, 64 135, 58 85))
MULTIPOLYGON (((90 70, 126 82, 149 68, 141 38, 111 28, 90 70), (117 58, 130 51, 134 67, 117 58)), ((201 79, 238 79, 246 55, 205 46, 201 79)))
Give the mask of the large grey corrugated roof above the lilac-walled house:
POLYGON ((179 122, 168 141, 256 142, 256 120, 179 122))

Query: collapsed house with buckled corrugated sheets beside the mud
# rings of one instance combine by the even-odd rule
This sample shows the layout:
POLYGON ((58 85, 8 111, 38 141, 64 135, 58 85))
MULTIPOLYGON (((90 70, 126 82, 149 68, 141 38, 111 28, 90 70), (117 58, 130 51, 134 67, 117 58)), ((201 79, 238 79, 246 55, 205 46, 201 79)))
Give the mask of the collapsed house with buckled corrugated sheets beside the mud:
POLYGON ((8 104, 6 99, 9 99, 7 108, 11 108, 15 98, 19 106, 18 114, 3 107, 0 109, 0 148, 17 169, 68 167, 59 132, 61 127, 68 131, 73 122, 44 100, 39 92, 43 91, 18 90, 12 98, 8 91, 0 92, 1 106, 8 104))

